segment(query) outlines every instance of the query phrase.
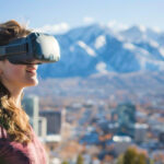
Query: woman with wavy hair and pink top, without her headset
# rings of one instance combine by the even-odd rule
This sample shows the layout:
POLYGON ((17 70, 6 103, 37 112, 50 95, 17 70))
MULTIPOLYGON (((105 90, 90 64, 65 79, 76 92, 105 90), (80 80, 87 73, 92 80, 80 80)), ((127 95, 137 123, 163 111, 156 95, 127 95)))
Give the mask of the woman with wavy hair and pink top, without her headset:
MULTIPOLYGON (((15 21, 0 24, 0 46, 31 31, 15 21)), ((46 164, 43 145, 21 106, 23 89, 38 83, 37 65, 13 65, 0 59, 0 164, 46 164)))

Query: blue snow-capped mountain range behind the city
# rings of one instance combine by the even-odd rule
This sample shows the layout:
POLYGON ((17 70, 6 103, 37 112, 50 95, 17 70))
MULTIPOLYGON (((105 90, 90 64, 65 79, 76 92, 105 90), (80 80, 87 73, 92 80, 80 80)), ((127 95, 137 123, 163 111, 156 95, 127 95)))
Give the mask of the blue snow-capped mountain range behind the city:
POLYGON ((43 78, 164 70, 164 33, 151 28, 136 25, 116 33, 93 24, 55 37, 61 58, 39 67, 43 78))

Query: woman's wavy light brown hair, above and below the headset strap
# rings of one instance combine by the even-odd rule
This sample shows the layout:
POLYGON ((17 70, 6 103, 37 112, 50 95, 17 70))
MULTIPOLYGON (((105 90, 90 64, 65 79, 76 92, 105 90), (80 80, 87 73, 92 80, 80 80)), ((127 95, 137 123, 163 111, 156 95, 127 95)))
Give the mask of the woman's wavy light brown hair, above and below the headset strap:
MULTIPOLYGON (((0 24, 0 46, 31 33, 16 21, 11 20, 0 24)), ((23 97, 23 95, 22 95, 23 97)), ((9 90, 0 81, 0 126, 2 126, 11 141, 27 144, 32 141, 32 131, 27 114, 16 107, 9 90)))

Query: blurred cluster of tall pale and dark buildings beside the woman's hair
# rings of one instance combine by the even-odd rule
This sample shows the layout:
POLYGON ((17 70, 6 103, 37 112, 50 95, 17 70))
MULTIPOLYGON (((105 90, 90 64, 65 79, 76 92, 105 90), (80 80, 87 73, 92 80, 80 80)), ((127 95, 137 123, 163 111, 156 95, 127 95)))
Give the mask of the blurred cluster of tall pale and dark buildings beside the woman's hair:
POLYGON ((65 110, 56 112, 39 110, 39 98, 28 95, 22 101, 23 108, 30 116, 30 122, 38 137, 45 141, 60 141, 62 125, 65 121, 65 110))

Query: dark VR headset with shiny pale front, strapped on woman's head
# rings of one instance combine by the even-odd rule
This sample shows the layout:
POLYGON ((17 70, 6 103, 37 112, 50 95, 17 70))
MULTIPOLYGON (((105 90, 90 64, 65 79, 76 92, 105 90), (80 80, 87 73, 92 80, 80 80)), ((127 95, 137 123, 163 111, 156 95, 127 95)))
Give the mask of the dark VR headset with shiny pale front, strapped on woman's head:
POLYGON ((58 42, 54 36, 43 33, 31 33, 0 46, 0 60, 8 59, 15 65, 56 62, 59 58, 58 42))

